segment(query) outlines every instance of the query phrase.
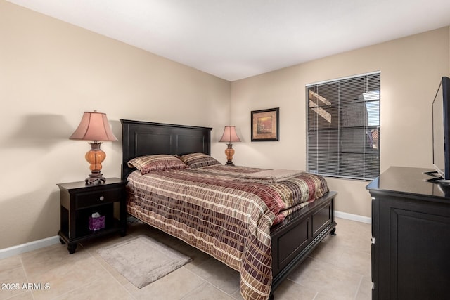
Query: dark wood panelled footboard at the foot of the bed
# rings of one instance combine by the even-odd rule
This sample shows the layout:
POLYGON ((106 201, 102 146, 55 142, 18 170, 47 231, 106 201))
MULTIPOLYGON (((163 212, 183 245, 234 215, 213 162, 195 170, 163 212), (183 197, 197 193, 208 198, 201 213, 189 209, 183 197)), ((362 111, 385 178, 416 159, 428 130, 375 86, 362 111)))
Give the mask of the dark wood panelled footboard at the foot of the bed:
POLYGON ((289 273, 307 258, 326 235, 334 234, 336 195, 336 192, 327 193, 272 228, 272 299, 275 289, 289 273))

